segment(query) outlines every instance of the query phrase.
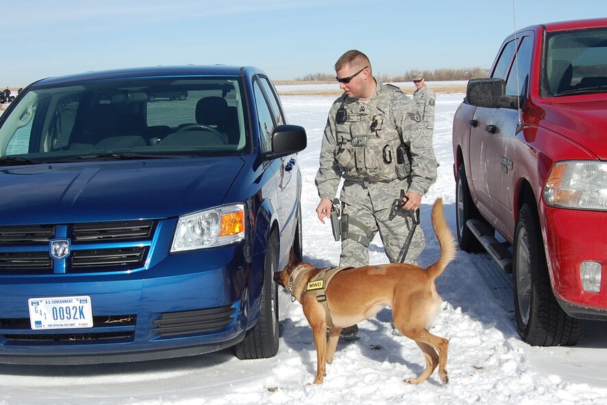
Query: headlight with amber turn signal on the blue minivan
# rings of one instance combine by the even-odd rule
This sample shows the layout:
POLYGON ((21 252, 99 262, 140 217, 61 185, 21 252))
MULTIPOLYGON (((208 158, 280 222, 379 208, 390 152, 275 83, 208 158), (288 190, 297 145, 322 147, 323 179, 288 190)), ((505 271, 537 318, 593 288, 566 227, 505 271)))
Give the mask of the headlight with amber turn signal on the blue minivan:
POLYGON ((171 252, 230 245, 245 238, 245 206, 232 204, 183 215, 171 252))

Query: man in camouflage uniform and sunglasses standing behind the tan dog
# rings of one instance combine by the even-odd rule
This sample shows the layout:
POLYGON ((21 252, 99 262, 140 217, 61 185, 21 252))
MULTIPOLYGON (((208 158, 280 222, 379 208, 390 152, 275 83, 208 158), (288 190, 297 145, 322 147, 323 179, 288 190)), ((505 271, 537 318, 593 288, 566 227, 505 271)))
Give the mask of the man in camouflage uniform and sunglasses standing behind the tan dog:
MULTIPOLYGON (((424 134, 421 115, 399 88, 373 78, 364 53, 347 51, 335 71, 344 94, 333 103, 325 126, 315 179, 321 197, 317 214, 322 223, 330 217, 343 178, 340 199, 347 235, 339 265, 367 265, 369 243, 378 231, 386 256, 395 262, 412 221, 402 210, 395 211, 394 203, 418 210, 421 197, 436 181, 432 135, 424 134), (401 189, 406 192, 402 201, 401 189)), ((403 261, 416 263, 424 245, 417 226, 403 261)))

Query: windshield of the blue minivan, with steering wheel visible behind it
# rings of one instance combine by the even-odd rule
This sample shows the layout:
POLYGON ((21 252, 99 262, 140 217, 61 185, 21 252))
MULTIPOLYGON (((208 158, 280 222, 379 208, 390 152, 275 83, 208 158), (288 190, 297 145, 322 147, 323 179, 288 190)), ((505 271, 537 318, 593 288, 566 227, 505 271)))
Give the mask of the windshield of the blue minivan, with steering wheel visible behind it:
POLYGON ((242 84, 234 77, 32 86, 13 104, 2 116, 0 165, 249 148, 242 84))

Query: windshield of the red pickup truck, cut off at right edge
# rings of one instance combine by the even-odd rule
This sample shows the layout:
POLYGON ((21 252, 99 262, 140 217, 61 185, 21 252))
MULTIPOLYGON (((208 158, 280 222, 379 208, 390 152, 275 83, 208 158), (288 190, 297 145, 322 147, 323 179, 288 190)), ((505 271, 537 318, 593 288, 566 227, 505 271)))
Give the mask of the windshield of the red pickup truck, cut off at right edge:
POLYGON ((607 91, 607 28, 546 35, 542 97, 607 91))

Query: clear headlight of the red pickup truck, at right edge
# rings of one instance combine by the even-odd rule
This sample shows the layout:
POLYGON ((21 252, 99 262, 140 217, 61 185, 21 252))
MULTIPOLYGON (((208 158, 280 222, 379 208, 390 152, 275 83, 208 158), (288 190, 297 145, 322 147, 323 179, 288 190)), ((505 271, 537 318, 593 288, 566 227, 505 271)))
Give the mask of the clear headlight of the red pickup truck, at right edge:
POLYGON ((544 187, 544 201, 559 208, 607 210, 607 162, 558 162, 544 187))

